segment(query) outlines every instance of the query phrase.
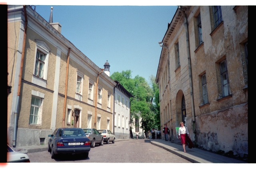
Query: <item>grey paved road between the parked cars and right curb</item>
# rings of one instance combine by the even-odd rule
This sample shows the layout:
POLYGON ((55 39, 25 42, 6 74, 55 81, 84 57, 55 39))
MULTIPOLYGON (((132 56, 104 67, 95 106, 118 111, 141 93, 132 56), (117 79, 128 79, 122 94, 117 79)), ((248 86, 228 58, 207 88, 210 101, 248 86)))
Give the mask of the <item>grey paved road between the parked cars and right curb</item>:
POLYGON ((28 153, 28 156, 31 163, 191 163, 144 139, 96 145, 86 159, 82 155, 61 155, 51 159, 48 151, 28 153), (163 157, 168 157, 168 161, 163 157))

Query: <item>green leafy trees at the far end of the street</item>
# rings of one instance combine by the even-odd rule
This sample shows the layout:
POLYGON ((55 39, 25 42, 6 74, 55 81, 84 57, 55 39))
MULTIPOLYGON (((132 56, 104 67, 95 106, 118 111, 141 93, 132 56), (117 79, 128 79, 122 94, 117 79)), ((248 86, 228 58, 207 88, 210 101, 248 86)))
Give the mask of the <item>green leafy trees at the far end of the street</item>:
POLYGON ((156 78, 151 75, 149 83, 139 75, 132 79, 131 70, 114 72, 110 78, 118 81, 134 96, 130 98, 130 122, 134 124, 133 118, 141 117, 140 128, 143 130, 148 131, 156 126, 160 128, 160 100, 158 85, 155 83, 156 78))

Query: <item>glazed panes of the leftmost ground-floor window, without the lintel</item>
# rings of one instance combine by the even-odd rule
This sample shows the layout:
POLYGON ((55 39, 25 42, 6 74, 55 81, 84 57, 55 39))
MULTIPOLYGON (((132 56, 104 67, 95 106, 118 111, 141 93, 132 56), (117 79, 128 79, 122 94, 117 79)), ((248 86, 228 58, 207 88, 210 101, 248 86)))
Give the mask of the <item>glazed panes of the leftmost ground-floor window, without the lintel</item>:
POLYGON ((39 124, 40 105, 41 105, 41 99, 32 96, 29 124, 39 124))

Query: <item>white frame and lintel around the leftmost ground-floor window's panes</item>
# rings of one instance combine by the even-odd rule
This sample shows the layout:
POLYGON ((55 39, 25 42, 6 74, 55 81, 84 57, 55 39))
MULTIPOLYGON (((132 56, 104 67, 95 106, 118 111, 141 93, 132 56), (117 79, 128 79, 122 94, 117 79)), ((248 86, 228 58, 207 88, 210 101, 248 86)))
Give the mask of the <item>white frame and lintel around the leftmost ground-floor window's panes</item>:
MULTIPOLYGON (((32 94, 31 94, 31 100, 32 97, 34 98, 38 98, 40 99, 40 105, 33 105, 34 107, 38 107, 38 121, 36 123, 31 123, 30 124, 30 117, 29 117, 29 125, 37 125, 37 126, 42 126, 42 109, 43 109, 43 101, 44 101, 44 93, 41 93, 39 91, 36 90, 32 90, 32 94)), ((31 102, 30 102, 31 105, 31 102)), ((31 112, 31 106, 30 106, 30 112, 31 112)))

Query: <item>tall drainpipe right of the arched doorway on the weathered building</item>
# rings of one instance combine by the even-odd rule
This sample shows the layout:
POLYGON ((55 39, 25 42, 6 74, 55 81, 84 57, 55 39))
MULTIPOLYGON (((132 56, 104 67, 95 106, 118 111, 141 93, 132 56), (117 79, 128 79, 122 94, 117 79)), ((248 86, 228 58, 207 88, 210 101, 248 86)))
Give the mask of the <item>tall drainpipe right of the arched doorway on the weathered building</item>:
POLYGON ((187 41, 187 51, 188 51, 188 74, 189 74, 189 85, 190 85, 190 99, 191 99, 191 109, 192 109, 192 121, 195 122, 195 109, 194 109, 194 97, 193 97, 193 85, 192 85, 192 71, 191 71, 191 61, 190 61, 190 49, 189 49, 189 39, 188 39, 188 20, 186 14, 183 12, 181 6, 179 6, 180 12, 184 16, 184 27, 186 31, 186 41, 187 41))

